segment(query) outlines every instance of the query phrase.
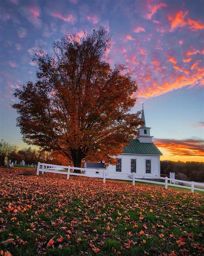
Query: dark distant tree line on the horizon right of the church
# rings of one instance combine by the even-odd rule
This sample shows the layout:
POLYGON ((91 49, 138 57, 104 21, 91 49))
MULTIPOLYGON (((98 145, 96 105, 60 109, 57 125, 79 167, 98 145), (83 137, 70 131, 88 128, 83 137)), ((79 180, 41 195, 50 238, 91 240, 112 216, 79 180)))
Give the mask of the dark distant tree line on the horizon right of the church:
POLYGON ((161 174, 175 173, 177 179, 204 182, 204 162, 161 161, 161 174))

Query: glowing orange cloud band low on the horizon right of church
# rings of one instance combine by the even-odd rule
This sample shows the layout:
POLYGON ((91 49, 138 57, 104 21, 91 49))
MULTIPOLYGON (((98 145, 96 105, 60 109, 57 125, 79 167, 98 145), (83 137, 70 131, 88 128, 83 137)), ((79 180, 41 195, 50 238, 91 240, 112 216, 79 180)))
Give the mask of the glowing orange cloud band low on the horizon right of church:
POLYGON ((155 139, 154 143, 169 151, 171 156, 204 156, 204 141, 201 139, 155 139))

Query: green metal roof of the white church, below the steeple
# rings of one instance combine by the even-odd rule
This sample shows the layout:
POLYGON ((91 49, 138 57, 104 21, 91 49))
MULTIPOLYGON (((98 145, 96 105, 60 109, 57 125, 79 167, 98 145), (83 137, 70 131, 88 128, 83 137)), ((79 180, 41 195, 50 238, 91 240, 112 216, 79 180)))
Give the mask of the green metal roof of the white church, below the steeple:
POLYGON ((138 139, 130 140, 130 144, 124 148, 123 154, 162 155, 153 142, 141 143, 138 139))

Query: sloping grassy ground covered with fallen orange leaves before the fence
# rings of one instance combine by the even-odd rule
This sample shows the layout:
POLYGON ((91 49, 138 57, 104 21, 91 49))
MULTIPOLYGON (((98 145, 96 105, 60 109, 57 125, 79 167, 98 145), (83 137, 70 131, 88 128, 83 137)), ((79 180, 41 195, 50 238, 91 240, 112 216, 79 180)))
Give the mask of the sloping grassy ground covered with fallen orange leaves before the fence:
POLYGON ((204 194, 0 169, 1 255, 204 255, 204 194))

